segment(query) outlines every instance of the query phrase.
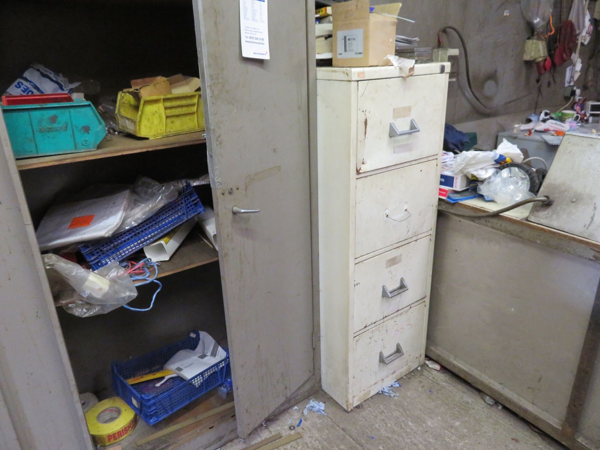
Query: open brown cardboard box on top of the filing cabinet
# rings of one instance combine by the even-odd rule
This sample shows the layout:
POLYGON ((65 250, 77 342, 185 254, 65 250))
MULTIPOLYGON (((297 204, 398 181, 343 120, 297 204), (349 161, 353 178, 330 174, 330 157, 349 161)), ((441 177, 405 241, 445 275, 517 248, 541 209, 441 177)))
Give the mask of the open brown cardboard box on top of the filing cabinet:
POLYGON ((394 55, 396 25, 394 16, 401 3, 373 8, 369 0, 350 0, 332 5, 334 67, 367 67, 380 65, 394 55))

